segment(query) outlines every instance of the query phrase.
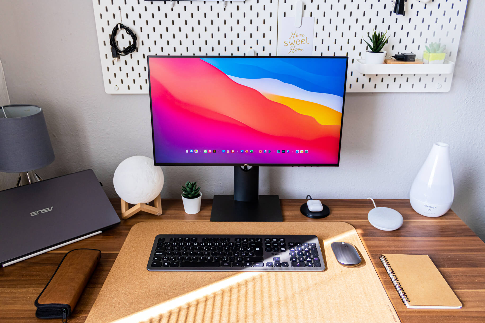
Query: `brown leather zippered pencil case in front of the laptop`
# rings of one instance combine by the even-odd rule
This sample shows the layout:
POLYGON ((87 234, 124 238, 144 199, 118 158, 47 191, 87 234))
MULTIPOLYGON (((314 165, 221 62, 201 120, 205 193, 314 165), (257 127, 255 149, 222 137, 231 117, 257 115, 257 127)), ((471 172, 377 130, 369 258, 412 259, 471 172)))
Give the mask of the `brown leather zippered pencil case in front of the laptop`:
POLYGON ((66 253, 34 302, 35 316, 39 319, 62 318, 67 322, 99 259, 101 251, 97 249, 74 249, 66 253))

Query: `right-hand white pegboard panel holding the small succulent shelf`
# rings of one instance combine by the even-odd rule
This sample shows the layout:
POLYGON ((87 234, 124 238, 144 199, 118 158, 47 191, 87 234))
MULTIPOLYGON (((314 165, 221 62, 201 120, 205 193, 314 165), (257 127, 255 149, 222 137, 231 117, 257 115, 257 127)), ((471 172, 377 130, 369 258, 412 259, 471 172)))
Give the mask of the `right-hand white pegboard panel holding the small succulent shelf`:
MULTIPOLYGON (((279 0, 278 15, 294 16, 295 0, 279 0)), ((368 31, 388 31, 388 56, 413 52, 422 57, 430 42, 446 44, 455 62, 467 0, 407 0, 404 15, 392 13, 391 0, 303 0, 303 16, 313 16, 315 56, 349 56, 347 92, 448 92, 453 74, 362 75, 356 60, 368 31)), ((281 55, 281 53, 278 53, 281 55)))

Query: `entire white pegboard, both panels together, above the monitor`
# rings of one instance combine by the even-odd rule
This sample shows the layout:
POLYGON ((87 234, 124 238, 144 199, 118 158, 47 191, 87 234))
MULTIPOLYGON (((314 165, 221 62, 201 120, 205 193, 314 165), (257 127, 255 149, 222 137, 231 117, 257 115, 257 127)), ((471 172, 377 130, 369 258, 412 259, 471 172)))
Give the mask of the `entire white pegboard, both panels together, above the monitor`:
MULTIPOLYGON (((294 16, 295 0, 170 1, 93 0, 99 53, 107 93, 148 93, 147 55, 276 55, 278 16, 294 16), (121 11, 121 16, 120 16, 121 11), (112 61, 109 39, 116 23, 138 36, 137 51, 112 61)), ((391 0, 304 0, 304 16, 315 17, 316 56, 349 56, 347 92, 448 92, 453 74, 362 75, 355 60, 366 50, 367 31, 388 30, 388 55, 422 56, 431 41, 446 44, 455 62, 467 0, 408 0, 404 16, 391 0)), ((118 32, 120 47, 130 37, 118 32)))

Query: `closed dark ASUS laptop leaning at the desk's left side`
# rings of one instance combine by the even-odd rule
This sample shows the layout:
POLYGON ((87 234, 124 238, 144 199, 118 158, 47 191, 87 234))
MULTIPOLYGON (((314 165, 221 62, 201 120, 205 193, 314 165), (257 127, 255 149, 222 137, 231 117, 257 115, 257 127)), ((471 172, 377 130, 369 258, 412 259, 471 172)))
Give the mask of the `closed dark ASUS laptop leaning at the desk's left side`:
POLYGON ((72 244, 119 223, 92 169, 0 191, 0 264, 72 244))

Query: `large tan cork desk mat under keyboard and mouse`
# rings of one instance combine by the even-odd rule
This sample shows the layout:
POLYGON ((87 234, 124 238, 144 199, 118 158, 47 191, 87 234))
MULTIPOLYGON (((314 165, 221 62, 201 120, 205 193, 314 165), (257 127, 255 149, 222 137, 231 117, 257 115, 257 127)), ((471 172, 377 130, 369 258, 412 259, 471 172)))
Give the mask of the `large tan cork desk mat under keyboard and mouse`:
POLYGON ((344 222, 159 222, 134 225, 86 323, 400 322, 356 230, 344 222), (150 272, 157 234, 315 234, 323 272, 150 272), (362 255, 341 266, 334 241, 362 255))

